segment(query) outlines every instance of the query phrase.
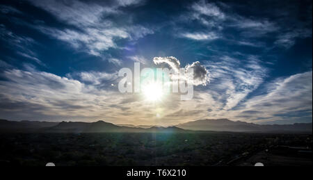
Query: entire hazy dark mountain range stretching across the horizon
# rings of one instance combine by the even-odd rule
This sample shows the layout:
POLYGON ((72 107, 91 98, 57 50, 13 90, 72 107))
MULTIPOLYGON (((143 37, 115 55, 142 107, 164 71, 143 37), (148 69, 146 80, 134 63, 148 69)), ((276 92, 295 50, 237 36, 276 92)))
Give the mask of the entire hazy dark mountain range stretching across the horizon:
POLYGON ((42 133, 104 133, 104 132, 188 132, 188 131, 232 131, 260 133, 312 133, 312 123, 296 124, 253 124, 227 119, 196 120, 176 126, 123 126, 109 122, 39 122, 0 120, 0 132, 42 132, 42 133))

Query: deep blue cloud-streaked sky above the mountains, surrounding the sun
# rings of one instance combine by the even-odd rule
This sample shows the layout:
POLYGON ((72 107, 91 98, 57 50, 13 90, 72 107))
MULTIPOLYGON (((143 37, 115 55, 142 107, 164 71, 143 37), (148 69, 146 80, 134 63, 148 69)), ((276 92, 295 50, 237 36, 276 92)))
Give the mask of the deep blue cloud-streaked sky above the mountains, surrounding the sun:
POLYGON ((312 122, 312 1, 0 3, 0 119, 312 122), (196 67, 193 99, 121 93, 123 67, 196 67))

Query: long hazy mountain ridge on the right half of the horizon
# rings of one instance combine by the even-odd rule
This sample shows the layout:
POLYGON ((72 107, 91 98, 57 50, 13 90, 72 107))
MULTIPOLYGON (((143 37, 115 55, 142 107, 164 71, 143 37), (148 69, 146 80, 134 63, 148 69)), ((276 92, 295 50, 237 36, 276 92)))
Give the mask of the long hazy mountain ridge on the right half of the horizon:
POLYGON ((261 125, 227 119, 196 120, 177 124, 182 129, 193 131, 234 131, 234 132, 311 132, 312 123, 261 125))

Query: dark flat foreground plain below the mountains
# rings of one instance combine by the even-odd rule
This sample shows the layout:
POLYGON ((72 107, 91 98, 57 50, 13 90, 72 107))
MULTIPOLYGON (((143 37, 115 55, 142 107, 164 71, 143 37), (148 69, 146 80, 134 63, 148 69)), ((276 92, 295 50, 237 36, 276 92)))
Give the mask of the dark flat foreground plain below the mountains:
POLYGON ((0 133, 1 165, 312 165, 312 134, 0 133))

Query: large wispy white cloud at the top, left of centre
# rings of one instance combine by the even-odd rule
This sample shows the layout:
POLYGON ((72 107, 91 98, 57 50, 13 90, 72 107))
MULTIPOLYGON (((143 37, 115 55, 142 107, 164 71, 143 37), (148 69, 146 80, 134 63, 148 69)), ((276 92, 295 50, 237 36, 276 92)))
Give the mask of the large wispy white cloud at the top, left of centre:
POLYGON ((75 28, 55 28, 47 25, 30 25, 53 38, 68 42, 75 49, 83 49, 94 56, 101 56, 102 51, 118 48, 115 40, 137 40, 147 34, 154 33, 152 29, 143 26, 116 24, 109 15, 123 15, 119 10, 122 6, 131 6, 141 1, 117 1, 111 3, 85 3, 82 1, 31 1, 35 6, 47 10, 57 19, 75 28))

